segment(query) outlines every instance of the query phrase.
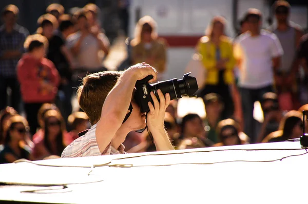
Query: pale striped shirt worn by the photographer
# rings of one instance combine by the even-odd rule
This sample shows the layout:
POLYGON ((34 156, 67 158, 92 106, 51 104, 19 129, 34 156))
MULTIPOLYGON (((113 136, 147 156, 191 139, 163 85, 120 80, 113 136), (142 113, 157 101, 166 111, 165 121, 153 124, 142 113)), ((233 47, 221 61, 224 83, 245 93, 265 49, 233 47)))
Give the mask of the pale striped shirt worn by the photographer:
POLYGON ((92 126, 85 135, 75 139, 69 146, 67 146, 62 152, 61 158, 126 154, 126 152, 124 152, 125 147, 122 144, 117 150, 111 146, 111 142, 103 153, 101 153, 96 140, 95 131, 96 124, 92 126))

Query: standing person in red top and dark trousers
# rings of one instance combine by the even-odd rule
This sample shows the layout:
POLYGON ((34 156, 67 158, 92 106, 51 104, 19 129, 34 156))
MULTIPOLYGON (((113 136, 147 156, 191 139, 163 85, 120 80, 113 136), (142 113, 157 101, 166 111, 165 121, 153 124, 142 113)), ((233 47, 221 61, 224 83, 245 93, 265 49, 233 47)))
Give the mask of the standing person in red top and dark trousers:
POLYGON ((17 78, 21 84, 30 132, 38 127, 37 112, 44 103, 52 103, 59 86, 60 76, 53 63, 45 58, 48 40, 40 34, 27 37, 25 53, 17 65, 17 78))

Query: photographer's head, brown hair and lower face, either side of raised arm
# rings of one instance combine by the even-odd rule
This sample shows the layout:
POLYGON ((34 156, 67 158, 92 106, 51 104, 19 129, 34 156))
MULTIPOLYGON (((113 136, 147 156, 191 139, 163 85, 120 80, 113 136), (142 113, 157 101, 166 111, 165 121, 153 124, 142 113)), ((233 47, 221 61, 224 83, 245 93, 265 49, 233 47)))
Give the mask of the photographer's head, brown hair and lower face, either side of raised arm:
MULTIPOLYGON (((78 88, 77 97, 79 106, 89 116, 91 125, 98 123, 105 99, 121 74, 122 72, 117 71, 104 71, 87 75, 83 79, 83 84, 78 88)), ((145 115, 140 112, 140 108, 133 100, 131 105, 132 112, 124 123, 126 128, 131 130, 145 128, 145 115)))

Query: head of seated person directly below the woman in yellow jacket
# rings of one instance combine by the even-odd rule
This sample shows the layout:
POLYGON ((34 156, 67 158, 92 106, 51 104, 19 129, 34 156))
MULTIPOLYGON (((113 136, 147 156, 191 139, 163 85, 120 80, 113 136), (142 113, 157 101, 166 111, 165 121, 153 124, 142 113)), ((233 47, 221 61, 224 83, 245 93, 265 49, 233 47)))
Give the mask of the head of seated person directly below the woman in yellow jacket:
POLYGON ((203 100, 207 117, 220 117, 224 106, 221 96, 209 93, 204 96, 203 100))

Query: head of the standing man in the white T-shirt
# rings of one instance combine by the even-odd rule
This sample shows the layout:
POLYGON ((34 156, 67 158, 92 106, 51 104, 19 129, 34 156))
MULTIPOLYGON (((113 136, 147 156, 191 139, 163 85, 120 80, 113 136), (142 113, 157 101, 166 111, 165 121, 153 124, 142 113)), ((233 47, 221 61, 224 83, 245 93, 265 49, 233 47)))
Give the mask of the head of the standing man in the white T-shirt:
POLYGON ((258 34, 260 32, 262 14, 258 9, 248 9, 244 21, 247 22, 248 29, 252 34, 258 34))

